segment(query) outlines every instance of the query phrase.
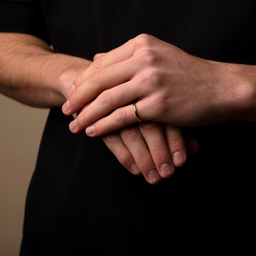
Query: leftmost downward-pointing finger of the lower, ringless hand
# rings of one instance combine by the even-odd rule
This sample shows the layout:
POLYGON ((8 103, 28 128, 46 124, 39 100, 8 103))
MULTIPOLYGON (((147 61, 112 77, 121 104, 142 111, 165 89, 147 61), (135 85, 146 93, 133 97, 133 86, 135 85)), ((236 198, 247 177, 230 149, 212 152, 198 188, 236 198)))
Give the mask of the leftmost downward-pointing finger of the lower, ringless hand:
POLYGON ((116 156, 121 165, 134 175, 141 174, 132 154, 124 144, 118 131, 108 133, 100 138, 106 144, 108 149, 110 149, 110 151, 116 156))

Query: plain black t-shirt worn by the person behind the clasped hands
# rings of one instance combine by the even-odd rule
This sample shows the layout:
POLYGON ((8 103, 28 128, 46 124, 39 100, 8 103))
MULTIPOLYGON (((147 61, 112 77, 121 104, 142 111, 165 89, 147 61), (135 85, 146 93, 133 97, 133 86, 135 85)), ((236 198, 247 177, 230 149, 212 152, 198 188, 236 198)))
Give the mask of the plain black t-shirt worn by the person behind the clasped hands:
MULTIPOLYGON (((0 31, 33 34, 88 59, 147 33, 201 58, 256 65, 255 10, 253 0, 0 1, 0 31)), ((244 226, 250 219, 254 122, 192 128, 199 153, 152 186, 100 138, 72 134, 71 121, 61 109, 50 111, 21 255, 162 254, 175 239, 216 246, 211 234, 221 244, 245 231, 238 218, 247 216, 244 226)))

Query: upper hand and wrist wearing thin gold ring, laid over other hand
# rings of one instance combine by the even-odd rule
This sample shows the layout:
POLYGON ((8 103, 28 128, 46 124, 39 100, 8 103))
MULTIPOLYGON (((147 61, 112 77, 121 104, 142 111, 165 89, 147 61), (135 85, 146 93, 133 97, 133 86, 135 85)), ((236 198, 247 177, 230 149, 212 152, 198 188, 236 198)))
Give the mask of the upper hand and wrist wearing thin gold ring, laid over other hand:
POLYGON ((143 34, 101 55, 81 74, 63 112, 73 114, 100 94, 70 123, 73 133, 87 128, 91 137, 136 123, 133 106, 126 106, 135 99, 141 120, 191 127, 248 119, 255 110, 255 79, 248 69, 197 58, 143 34))

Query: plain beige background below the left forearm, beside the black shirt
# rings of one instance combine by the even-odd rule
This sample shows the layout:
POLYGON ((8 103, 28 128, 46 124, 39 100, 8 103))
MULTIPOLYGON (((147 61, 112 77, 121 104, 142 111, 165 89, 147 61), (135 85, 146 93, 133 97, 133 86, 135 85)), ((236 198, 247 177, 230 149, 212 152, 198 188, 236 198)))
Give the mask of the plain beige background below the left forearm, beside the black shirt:
POLYGON ((0 94, 0 255, 18 256, 25 199, 49 110, 0 94))

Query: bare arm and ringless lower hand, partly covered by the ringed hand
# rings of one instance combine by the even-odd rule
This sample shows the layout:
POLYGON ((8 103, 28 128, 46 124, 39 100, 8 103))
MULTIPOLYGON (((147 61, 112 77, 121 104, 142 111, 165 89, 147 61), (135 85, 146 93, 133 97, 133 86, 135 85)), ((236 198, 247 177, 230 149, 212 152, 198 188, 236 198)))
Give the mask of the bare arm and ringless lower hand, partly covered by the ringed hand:
MULTIPOLYGON (((0 42, 0 92, 27 105, 60 107, 69 98, 70 90, 78 88, 86 74, 90 76, 90 70, 85 70, 92 65, 91 61, 54 53, 37 37, 0 33, 0 42)), ((95 56, 95 61, 98 57, 95 56)), ((94 97, 75 112, 82 113, 90 107, 94 97)), ((175 166, 186 162, 186 144, 177 126, 159 122, 130 124, 101 138, 127 170, 143 174, 150 184, 171 177, 175 166)), ((198 151, 192 137, 187 138, 187 146, 190 153, 198 151)))

